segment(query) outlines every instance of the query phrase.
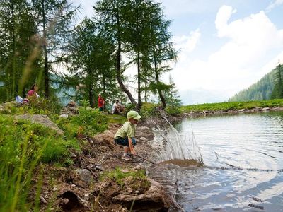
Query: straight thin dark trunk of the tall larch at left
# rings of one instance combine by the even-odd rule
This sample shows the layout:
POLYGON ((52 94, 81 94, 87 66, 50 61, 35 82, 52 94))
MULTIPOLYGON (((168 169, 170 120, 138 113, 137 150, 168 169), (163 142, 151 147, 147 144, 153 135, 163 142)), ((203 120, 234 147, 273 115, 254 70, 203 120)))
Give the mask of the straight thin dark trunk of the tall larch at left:
POLYGON ((46 35, 46 17, 45 0, 42 0, 42 23, 43 23, 43 52, 44 52, 44 77, 45 77, 45 98, 49 98, 49 76, 48 76, 48 55, 47 55, 47 35, 46 35))

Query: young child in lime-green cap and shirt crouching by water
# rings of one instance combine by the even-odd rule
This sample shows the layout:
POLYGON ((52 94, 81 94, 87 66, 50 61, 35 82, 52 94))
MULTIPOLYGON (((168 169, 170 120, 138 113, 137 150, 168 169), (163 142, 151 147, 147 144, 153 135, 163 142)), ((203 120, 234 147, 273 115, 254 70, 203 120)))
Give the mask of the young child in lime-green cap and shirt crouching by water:
POLYGON ((125 146, 124 154, 121 158, 122 160, 132 160, 129 155, 134 155, 134 145, 136 145, 134 135, 136 133, 137 122, 139 122, 140 118, 141 116, 138 112, 130 110, 127 113, 127 122, 125 122, 123 126, 117 130, 114 136, 115 143, 125 146))

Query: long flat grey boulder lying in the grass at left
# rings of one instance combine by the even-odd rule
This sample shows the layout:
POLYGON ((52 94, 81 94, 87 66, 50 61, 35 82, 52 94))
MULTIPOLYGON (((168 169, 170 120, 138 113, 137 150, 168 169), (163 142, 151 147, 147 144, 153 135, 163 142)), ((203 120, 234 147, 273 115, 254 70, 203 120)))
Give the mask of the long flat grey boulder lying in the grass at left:
POLYGON ((57 131, 57 134, 63 135, 64 132, 62 129, 59 129, 59 127, 54 124, 50 120, 47 115, 42 115, 42 114, 23 114, 23 115, 17 115, 15 116, 16 119, 24 119, 24 120, 29 120, 32 123, 37 123, 37 124, 42 124, 43 126, 47 126, 50 129, 53 129, 54 131, 57 131))

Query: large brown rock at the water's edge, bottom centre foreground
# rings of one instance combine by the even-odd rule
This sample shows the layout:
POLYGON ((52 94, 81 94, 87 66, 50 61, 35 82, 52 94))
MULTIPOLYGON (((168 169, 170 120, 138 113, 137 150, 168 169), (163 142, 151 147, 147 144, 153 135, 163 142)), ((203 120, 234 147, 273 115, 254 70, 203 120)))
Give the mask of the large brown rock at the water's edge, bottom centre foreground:
POLYGON ((133 210, 138 208, 139 211, 167 211, 170 207, 170 201, 165 189, 153 179, 149 179, 149 181, 151 187, 144 194, 119 194, 113 198, 113 201, 127 206, 127 208, 130 208, 134 201, 133 210))

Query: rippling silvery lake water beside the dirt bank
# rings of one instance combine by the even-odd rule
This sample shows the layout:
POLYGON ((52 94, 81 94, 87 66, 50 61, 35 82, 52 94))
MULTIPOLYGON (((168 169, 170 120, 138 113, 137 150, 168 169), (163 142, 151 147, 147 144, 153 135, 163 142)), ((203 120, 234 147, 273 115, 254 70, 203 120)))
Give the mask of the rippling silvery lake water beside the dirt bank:
POLYGON ((283 211, 283 112, 185 119, 175 129, 194 132, 204 166, 163 165, 149 175, 178 186, 185 211, 283 211))

